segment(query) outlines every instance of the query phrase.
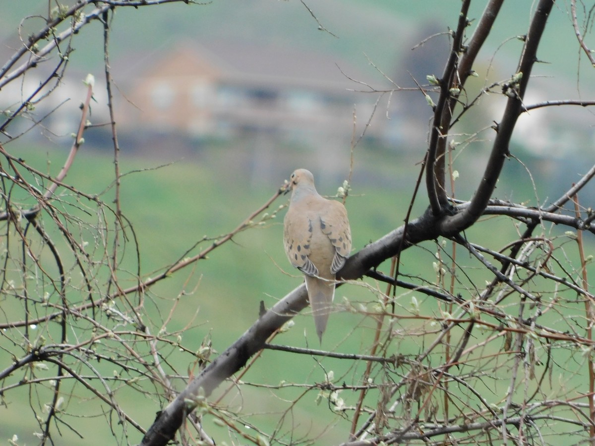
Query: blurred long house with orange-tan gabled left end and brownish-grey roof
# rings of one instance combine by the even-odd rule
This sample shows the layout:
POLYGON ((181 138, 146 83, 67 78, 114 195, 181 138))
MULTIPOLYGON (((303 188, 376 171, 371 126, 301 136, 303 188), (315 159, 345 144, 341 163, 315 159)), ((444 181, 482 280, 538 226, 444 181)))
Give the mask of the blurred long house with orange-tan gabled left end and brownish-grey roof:
POLYGON ((177 46, 127 71, 125 94, 136 108, 121 103, 120 126, 189 136, 349 138, 355 104, 367 117, 376 99, 350 91, 361 85, 348 76, 358 75, 334 56, 274 45, 177 46))

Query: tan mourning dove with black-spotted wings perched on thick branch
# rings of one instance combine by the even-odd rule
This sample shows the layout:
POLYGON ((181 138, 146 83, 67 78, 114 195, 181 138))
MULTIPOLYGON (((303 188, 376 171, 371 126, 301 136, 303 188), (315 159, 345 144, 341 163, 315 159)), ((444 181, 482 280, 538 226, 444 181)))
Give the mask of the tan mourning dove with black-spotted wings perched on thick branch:
POLYGON ((335 275, 351 251, 351 230, 343 203, 327 200, 314 187, 314 176, 297 169, 290 178, 292 197, 284 219, 285 253, 305 274, 318 338, 327 326, 335 275))

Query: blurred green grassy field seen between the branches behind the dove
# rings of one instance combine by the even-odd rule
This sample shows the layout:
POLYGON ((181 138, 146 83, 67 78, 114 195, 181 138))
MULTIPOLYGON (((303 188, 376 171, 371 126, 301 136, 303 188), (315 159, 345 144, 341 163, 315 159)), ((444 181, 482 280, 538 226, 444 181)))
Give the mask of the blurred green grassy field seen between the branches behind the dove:
MULTIPOLYGON (((65 156, 61 151, 42 153, 26 147, 19 150, 21 151, 19 156, 31 165, 42 171, 49 168, 53 174, 61 167, 65 156), (51 164, 48 164, 48 159, 51 160, 51 164)), ((161 168, 155 168, 164 164, 159 159, 126 156, 121 159, 121 171, 130 172, 121 180, 121 205, 139 242, 142 277, 153 277, 156 271, 176 262, 180 257, 198 253, 203 247, 208 246, 208 241, 199 244, 191 252, 186 253, 186 251, 204 235, 217 237, 233 230, 250 212, 273 195, 280 186, 281 180, 288 177, 290 171, 297 167, 288 165, 286 171, 275 172, 279 178, 278 181, 269 183, 250 181, 246 168, 230 165, 230 155, 224 150, 211 150, 193 159, 174 162, 161 168)), ((394 153, 374 150, 371 147, 364 147, 361 152, 356 153, 356 175, 352 184, 352 195, 347 200, 354 250, 361 249, 369 241, 398 227, 405 218, 405 209, 417 178, 418 167, 412 159, 404 158, 396 162, 397 158, 394 153), (375 180, 368 178, 366 181, 358 182, 357 178, 367 178, 366 175, 361 175, 361 172, 367 171, 377 173, 375 180), (359 175, 358 172, 360 172, 359 175), (387 180, 390 178, 398 178, 398 180, 390 182, 387 180)), ((102 200, 112 205, 114 188, 110 185, 113 168, 110 156, 82 150, 66 182, 87 193, 99 194, 102 200)), ((537 181, 540 181, 539 178, 537 181)), ((527 176, 523 177, 522 174, 519 175, 515 169, 509 170, 509 177, 505 175, 502 183, 500 190, 506 191, 511 188, 514 190, 515 199, 531 199, 533 192, 530 179, 527 176)), ((333 194, 339 184, 328 184, 328 181, 321 179, 319 190, 324 194, 333 194)), ((465 189, 462 184, 461 190, 465 191, 465 189)), ((423 185, 421 190, 423 191, 423 185)), ((60 193, 64 202, 81 200, 68 191, 61 190, 60 193)), ((277 199, 271 206, 271 210, 274 211, 286 202, 287 197, 277 199)), ((418 202, 414 216, 424 209, 423 192, 418 202)), ((175 332, 190 324, 191 328, 181 335, 181 346, 190 351, 196 351, 201 346, 203 338, 208 337, 212 340, 212 348, 221 353, 258 317, 259 301, 264 301, 265 306, 270 307, 284 294, 299 285, 302 278, 290 268, 283 252, 281 242, 283 215, 284 211, 280 211, 277 218, 272 221, 238 234, 232 242, 209 255, 208 260, 202 260, 195 266, 177 272, 152 287, 145 302, 147 310, 145 322, 152 326, 152 332, 159 331, 160 321, 170 312, 174 299, 182 290, 186 290, 188 293, 181 296, 173 318, 167 324, 167 331, 175 332)), ((466 235, 469 240, 484 243, 487 247, 498 250, 506 241, 513 240, 516 231, 515 225, 505 219, 488 218, 467 231, 466 235), (486 238, 486 234, 490 236, 486 238)), ((125 247, 123 245, 120 262, 124 270, 131 271, 129 274, 126 272, 120 274, 121 284, 124 287, 134 284, 136 264, 136 249, 131 241, 130 230, 127 234, 129 234, 129 240, 125 247)), ((590 247, 592 246, 590 244, 590 247)), ((409 278, 411 281, 418 280, 415 277, 435 277, 433 262, 436 260, 434 256, 436 251, 437 245, 433 241, 407 250, 401 259, 401 273, 414 276, 409 278)), ((471 265, 465 270, 471 281, 481 286, 484 280, 490 279, 468 256, 460 257, 464 257, 459 259, 461 265, 471 265)), ((388 266, 381 266, 380 269, 387 271, 388 266)), ((374 282, 368 281, 368 283, 372 287, 376 286, 374 282)), ((472 287, 468 282, 461 283, 458 287, 461 293, 471 296, 472 287)), ((378 285, 378 288, 384 290, 383 285, 378 285)), ((401 292, 402 290, 399 291, 401 292)), ((397 314, 412 314, 411 296, 412 293, 403 293, 397 299, 397 314)), ((374 294, 364 287, 354 284, 339 288, 336 303, 341 304, 344 297, 354 306, 361 303, 367 306, 368 310, 374 309, 374 294)), ((439 313, 435 300, 424 298, 419 294, 417 299, 424 314, 439 313)), ((513 298, 510 303, 514 302, 516 298, 513 298)), ((1 305, 7 317, 12 314, 18 315, 19 311, 22 312, 20 304, 11 309, 14 302, 10 298, 5 298, 1 305)), ((577 309, 577 312, 579 310, 577 309)), ((422 322, 415 319, 403 319, 397 324, 403 333, 416 332, 422 328, 422 322)), ((367 353, 366 348, 371 340, 373 327, 372 318, 339 311, 331 316, 322 347, 343 353, 367 353)), ((431 337, 432 335, 428 337, 408 335, 399 341, 398 350, 389 351, 389 354, 419 353, 424 348, 424 343, 431 340, 431 337)), ((18 348, 10 346, 10 343, 4 344, 5 342, 5 338, 0 338, 1 365, 10 363, 11 357, 8 352, 18 351, 18 348)), ((314 323, 308 312, 297 316, 293 328, 285 334, 278 335, 275 343, 318 348, 314 323)), ((396 344, 392 348, 396 348, 396 344)), ((182 353, 174 347, 164 348, 162 354, 167 357, 167 370, 173 375, 172 380, 176 387, 183 388, 184 379, 176 378, 174 375, 187 376, 189 370, 193 370, 193 356, 182 353)), ((364 363, 356 363, 352 368, 352 365, 336 359, 322 359, 319 363, 317 359, 309 356, 264 351, 255 366, 246 376, 243 376, 242 381, 271 386, 281 382, 298 384, 323 382, 324 373, 333 370, 336 382, 359 384, 358 379, 364 366, 364 363)), ((126 374, 123 370, 112 370, 113 368, 106 363, 101 363, 98 367, 103 368, 102 372, 108 376, 126 374)), ((578 370, 581 370, 580 365, 578 370)), ((196 372, 198 370, 193 370, 192 373, 196 372)), ((41 376, 43 373, 39 371, 37 375, 41 376)), ((381 379, 381 376, 376 378, 381 379)), ((572 380, 578 382, 580 379, 580 376, 575 376, 573 372, 572 380)), ((503 385, 506 385, 506 381, 503 381, 503 385)), ((139 386, 142 387, 142 384, 139 386)), ((150 386, 149 389, 154 391, 150 386)), ((493 391, 493 399, 499 400, 500 390, 490 389, 491 391, 493 391)), ((0 439, 12 438, 12 435, 17 434, 21 439, 19 444, 36 443, 32 432, 39 431, 39 428, 35 426, 35 422, 32 424, 33 414, 29 408, 28 392, 29 388, 21 387, 5 393, 4 401, 7 405, 0 407, 0 417, 3 420, 0 423, 0 439)), ((283 417, 283 425, 277 426, 279 432, 286 432, 286 440, 289 435, 299 438, 302 435, 317 433, 316 435, 322 435, 320 444, 344 441, 349 420, 340 414, 333 413, 326 400, 317 404, 316 395, 317 391, 305 392, 305 388, 262 390, 243 385, 241 391, 233 387, 224 402, 230 405, 230 412, 234 410, 253 412, 254 415, 246 421, 265 430, 271 430, 271 426, 277 423, 279 412, 288 411, 283 417), (299 399, 299 403, 295 407, 288 408, 290 406, 288 401, 295 398, 299 399), (337 426, 337 428, 327 426, 337 426)), ((355 392, 343 392, 342 397, 345 398, 347 405, 355 404, 355 392)), ((370 397, 375 397, 375 393, 371 392, 370 397)), ((47 398, 48 400, 51 398, 49 392, 47 398)), ((143 395, 141 392, 127 388, 126 385, 118 388, 117 398, 123 409, 145 428, 151 425, 155 412, 161 409, 163 404, 151 395, 143 395)), ((216 398, 217 395, 213 395, 212 400, 216 398)), ((96 400, 87 399, 87 397, 71 395, 69 398, 66 410, 73 416, 72 420, 73 423, 76 422, 77 429, 82 430, 84 444, 106 444, 105 435, 109 435, 106 420, 110 417, 115 419, 114 414, 102 414, 106 409, 105 404, 99 404, 96 400), (79 409, 79 406, 84 406, 84 409, 79 409), (78 419, 79 414, 85 417, 89 412, 95 412, 96 416, 86 420, 78 419)), ((209 434, 218 439, 218 442, 226 441, 228 438, 227 429, 215 424, 212 417, 205 417, 205 428, 209 434)), ((55 439, 58 444, 80 444, 80 438, 67 427, 62 426, 60 432, 63 437, 55 439)), ((128 441, 133 444, 140 441, 140 434, 131 426, 127 428, 127 435, 128 441)), ((124 439, 120 438, 120 441, 124 439)), ((236 441, 242 442, 241 439, 236 441)))

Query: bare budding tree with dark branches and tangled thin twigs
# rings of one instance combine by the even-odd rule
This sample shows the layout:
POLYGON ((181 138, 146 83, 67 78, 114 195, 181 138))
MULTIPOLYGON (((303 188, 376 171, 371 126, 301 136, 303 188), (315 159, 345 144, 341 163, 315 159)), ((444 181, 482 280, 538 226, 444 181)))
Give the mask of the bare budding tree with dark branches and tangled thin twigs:
MULTIPOLYGON (((0 410, 18 410, 40 444, 62 444, 61 436, 92 442, 84 424, 89 419, 101 437, 98 444, 134 444, 141 438, 146 445, 174 438, 182 444, 312 444, 326 442, 319 438, 327 429, 339 432, 349 445, 592 442, 595 300, 588 287, 593 256, 586 247, 593 246, 595 212, 592 195, 579 197, 595 167, 581 178, 568 178, 568 191, 550 201, 534 189, 537 206, 494 199, 503 165, 515 158, 511 136, 521 115, 577 105, 588 113, 587 106, 595 105, 559 98, 555 79, 546 101, 524 100, 534 80, 532 70, 540 63, 538 49, 554 2, 532 2, 528 29, 518 36, 524 42, 518 67, 501 80, 486 78, 479 88, 468 87, 468 81, 477 76, 476 65, 490 64, 477 60, 490 30, 506 27, 506 17, 499 17, 503 0, 488 1, 474 21, 468 20, 471 0, 453 2, 461 10, 458 23, 441 25, 450 39, 449 51, 439 55, 444 71, 417 79, 431 125, 427 151, 419 153, 418 181, 412 180, 411 203, 424 202, 427 211, 395 211, 394 230, 380 238, 366 234, 377 240, 354 252, 340 271, 345 282, 341 289, 366 290, 366 299, 336 302, 337 312, 361 318, 353 329, 341 327, 348 338, 356 337, 345 344, 352 351, 273 343, 307 307, 302 285, 288 290, 270 309, 261 304, 258 320, 215 357, 208 339, 191 351, 181 342, 184 329, 166 329, 176 317, 176 301, 160 307, 160 316, 148 313, 155 304, 151 287, 197 262, 208 262, 206 256, 217 256, 218 247, 236 234, 267 222, 271 211, 265 211, 284 186, 235 230, 205 238, 198 246, 189 244, 178 262, 163 265, 151 277, 142 271, 140 255, 133 264, 122 262, 124 250, 138 253, 139 246, 133 216, 120 200, 123 172, 109 71, 111 17, 114 10, 134 7, 142 20, 145 8, 176 1, 79 0, 68 6, 48 0, 45 25, 21 35, 20 48, 0 69, 0 97, 9 89, 20 91, 20 101, 4 111, 0 123, 0 410), (114 148, 112 186, 101 197, 66 181, 81 156, 84 133, 94 125, 87 120, 93 77, 85 80, 80 124, 73 125, 74 142, 59 172, 34 168, 11 150, 14 140, 44 125, 45 117, 37 116, 35 108, 59 94, 71 43, 90 23, 100 23, 104 30, 111 116, 106 125, 114 148), (27 76, 33 69, 45 70, 45 80, 31 86, 27 76), (462 133, 459 127, 488 96, 503 107, 491 109, 484 128, 462 133), (12 124, 23 118, 30 120, 29 128, 13 134, 12 124), (464 158, 465 147, 480 138, 491 140, 481 180, 471 197, 455 197, 459 172, 453 159, 464 158), (494 234, 511 226, 516 235, 499 249, 490 247, 494 234), (432 268, 405 272, 408 256, 428 252, 432 268), (412 351, 411 345, 417 353, 403 354, 412 351), (258 369, 263 349, 277 350, 268 353, 278 355, 278 362, 314 358, 324 378, 311 373, 303 382, 271 384, 271 369, 258 369), (173 379, 184 380, 187 387, 180 391, 173 379), (280 409, 256 417, 264 412, 259 401, 270 395, 280 409), (309 409, 315 398, 324 402, 320 416, 309 409), (137 419, 136 404, 151 406, 158 416, 154 421, 137 419), (220 429, 216 433, 206 423, 212 419, 220 429), (316 429, 320 423, 321 431, 316 429)), ((595 42, 589 43, 588 34, 593 5, 569 0, 558 7, 568 7, 569 26, 577 36, 576 48, 568 51, 580 51, 581 59, 595 66, 595 42)), ((324 23, 319 24, 324 30, 324 23)), ((587 77, 592 80, 592 73, 587 77)), ((376 93, 398 102, 402 90, 395 84, 376 93)), ((357 169, 356 151, 353 156, 357 169)), ((387 157, 384 162, 398 161, 387 157)), ((469 176, 461 172, 461 177, 469 176)), ((347 183, 344 196, 348 191, 347 183)), ((250 298, 256 308, 258 298, 245 296, 250 298)), ((14 436, 10 441, 21 440, 14 436)))

